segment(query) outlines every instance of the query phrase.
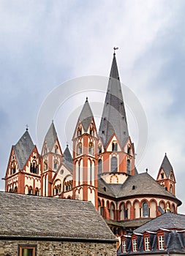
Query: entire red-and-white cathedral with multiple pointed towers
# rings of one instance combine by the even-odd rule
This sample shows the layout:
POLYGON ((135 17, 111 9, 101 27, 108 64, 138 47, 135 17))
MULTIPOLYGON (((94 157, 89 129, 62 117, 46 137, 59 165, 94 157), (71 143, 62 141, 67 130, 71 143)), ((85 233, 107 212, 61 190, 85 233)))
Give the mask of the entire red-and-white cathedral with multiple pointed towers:
POLYGON ((116 236, 132 232, 164 212, 177 213, 175 175, 165 154, 156 180, 135 167, 116 54, 110 69, 99 130, 86 98, 74 124, 72 154, 58 140, 52 121, 37 150, 29 130, 12 146, 5 191, 91 201, 116 236))

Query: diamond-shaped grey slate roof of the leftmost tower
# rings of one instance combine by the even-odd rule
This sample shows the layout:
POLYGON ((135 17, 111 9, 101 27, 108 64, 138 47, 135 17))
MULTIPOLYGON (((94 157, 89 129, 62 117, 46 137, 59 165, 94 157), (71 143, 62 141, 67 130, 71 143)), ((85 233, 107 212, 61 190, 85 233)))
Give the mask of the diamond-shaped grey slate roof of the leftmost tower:
POLYGON ((22 170, 24 165, 26 165, 26 162, 29 159, 29 156, 33 149, 34 143, 31 140, 29 132, 26 130, 20 140, 18 140, 18 143, 13 146, 15 157, 18 160, 18 167, 20 168, 20 170, 22 170))

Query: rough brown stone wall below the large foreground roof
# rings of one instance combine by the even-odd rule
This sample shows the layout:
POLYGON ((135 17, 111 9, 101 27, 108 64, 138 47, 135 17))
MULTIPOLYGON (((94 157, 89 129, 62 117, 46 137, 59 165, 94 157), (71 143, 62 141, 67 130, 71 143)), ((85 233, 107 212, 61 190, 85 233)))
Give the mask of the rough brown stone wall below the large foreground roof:
POLYGON ((4 241, 0 240, 0 256, 19 256, 19 246, 36 246, 37 256, 116 256, 116 242, 111 244, 75 241, 4 241))

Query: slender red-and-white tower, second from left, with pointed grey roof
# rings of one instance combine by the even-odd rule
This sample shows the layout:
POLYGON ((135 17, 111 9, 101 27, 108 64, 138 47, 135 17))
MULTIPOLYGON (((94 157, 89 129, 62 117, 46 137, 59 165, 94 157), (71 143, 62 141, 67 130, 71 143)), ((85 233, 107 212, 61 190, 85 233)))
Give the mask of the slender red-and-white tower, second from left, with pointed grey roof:
POLYGON ((41 156, 41 195, 50 197, 53 195, 53 176, 60 167, 62 160, 61 146, 53 121, 45 136, 41 156))

